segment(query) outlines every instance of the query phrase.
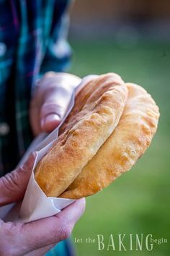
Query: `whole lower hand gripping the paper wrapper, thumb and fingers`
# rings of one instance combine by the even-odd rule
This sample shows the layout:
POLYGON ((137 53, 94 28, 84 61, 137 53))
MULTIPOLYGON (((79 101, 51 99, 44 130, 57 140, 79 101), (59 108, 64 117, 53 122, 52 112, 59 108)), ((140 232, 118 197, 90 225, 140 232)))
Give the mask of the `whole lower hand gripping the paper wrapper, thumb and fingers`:
MULTIPOLYGON (((17 202, 24 196, 36 154, 30 155, 24 166, 0 179, 0 206, 17 202)), ((56 216, 31 223, 12 223, 0 220, 0 255, 40 256, 66 239, 76 221, 84 213, 85 200, 76 200, 56 216)))

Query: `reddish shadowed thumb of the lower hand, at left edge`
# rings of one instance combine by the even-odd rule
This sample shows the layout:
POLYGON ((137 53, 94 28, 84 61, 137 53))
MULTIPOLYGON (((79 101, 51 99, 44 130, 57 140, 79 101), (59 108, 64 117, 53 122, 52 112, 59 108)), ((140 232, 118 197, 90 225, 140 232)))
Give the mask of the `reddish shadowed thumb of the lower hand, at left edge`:
POLYGON ((24 197, 36 155, 36 153, 32 153, 23 166, 1 177, 0 206, 17 202, 24 197))

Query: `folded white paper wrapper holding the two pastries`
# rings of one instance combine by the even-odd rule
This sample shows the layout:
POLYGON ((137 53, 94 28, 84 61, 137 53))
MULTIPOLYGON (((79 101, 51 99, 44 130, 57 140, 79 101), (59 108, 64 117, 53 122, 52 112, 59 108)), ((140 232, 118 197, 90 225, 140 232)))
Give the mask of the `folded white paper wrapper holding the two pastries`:
POLYGON ((53 142, 57 140, 58 129, 61 127, 63 121, 65 121, 66 117, 73 108, 76 88, 71 95, 71 101, 69 103, 68 110, 66 111, 66 115, 64 116, 58 128, 51 132, 50 135, 43 133, 35 138, 35 140, 28 148, 27 152, 24 154, 22 160, 19 162, 18 166, 21 166, 31 152, 37 151, 35 163, 32 168, 32 174, 30 176, 30 181, 27 185, 23 201, 17 204, 6 205, 0 208, 0 218, 3 218, 4 221, 22 221, 24 223, 27 223, 30 221, 38 220, 40 218, 54 216, 55 214, 59 213, 63 208, 66 208, 66 206, 70 205, 71 202, 75 201, 66 198, 47 197, 35 181, 34 169, 40 159, 53 145, 53 142))

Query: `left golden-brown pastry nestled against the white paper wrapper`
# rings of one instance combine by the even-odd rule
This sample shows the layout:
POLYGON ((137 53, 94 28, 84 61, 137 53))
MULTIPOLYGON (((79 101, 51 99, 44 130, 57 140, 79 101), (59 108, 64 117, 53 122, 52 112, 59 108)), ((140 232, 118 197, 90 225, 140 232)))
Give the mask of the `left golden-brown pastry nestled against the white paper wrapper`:
POLYGON ((117 126, 127 97, 127 87, 114 73, 89 81, 79 91, 67 125, 35 168, 45 195, 58 197, 76 179, 117 126))

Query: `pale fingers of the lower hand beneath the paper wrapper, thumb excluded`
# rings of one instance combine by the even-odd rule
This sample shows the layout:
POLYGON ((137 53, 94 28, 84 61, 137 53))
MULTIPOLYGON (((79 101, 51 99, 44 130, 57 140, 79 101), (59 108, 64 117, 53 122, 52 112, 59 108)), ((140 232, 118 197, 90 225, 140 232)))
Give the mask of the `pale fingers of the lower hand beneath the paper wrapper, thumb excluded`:
POLYGON ((0 255, 40 256, 70 236, 84 213, 85 200, 76 200, 58 215, 32 223, 0 222, 0 255))

